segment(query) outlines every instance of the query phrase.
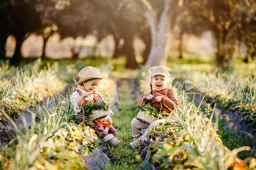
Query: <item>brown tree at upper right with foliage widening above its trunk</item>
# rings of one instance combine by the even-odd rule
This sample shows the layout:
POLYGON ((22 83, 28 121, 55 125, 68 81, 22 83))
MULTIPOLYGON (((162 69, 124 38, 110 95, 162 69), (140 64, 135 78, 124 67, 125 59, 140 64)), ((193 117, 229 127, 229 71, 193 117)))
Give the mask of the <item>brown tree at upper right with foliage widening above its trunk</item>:
POLYGON ((217 65, 226 67, 234 52, 234 35, 238 33, 234 31, 238 31, 236 27, 244 19, 242 16, 246 10, 242 9, 247 6, 245 1, 197 0, 193 6, 191 14, 212 32, 215 39, 217 65))

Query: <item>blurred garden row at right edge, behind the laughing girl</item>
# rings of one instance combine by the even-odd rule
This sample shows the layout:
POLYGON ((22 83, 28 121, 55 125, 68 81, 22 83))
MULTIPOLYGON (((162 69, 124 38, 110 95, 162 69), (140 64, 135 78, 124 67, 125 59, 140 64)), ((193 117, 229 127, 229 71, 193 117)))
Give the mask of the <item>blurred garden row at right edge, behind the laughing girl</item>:
POLYGON ((209 67, 201 68, 180 68, 179 71, 173 68, 172 76, 183 80, 192 81, 194 89, 212 100, 212 103, 219 103, 228 111, 238 110, 252 129, 256 129, 256 74, 254 67, 231 69, 223 72, 211 70, 209 67), (187 70, 189 74, 187 74, 187 70), (246 71, 245 71, 246 70, 246 71), (250 73, 250 75, 244 72, 250 73))

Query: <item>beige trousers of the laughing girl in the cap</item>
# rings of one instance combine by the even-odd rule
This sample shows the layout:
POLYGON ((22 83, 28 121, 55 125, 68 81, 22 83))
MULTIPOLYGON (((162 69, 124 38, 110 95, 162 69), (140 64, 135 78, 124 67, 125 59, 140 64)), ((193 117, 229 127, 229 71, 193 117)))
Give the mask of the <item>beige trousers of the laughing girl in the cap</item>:
POLYGON ((160 122, 163 123, 164 121, 165 121, 165 119, 158 119, 157 121, 154 121, 148 125, 148 124, 140 122, 139 120, 134 118, 134 119, 132 119, 132 137, 135 140, 141 138, 142 141, 148 142, 148 140, 150 139, 149 138, 150 133, 148 132, 148 130, 153 129, 155 124, 157 126, 158 123, 160 123, 160 122), (141 134, 142 129, 147 129, 143 135, 141 134))

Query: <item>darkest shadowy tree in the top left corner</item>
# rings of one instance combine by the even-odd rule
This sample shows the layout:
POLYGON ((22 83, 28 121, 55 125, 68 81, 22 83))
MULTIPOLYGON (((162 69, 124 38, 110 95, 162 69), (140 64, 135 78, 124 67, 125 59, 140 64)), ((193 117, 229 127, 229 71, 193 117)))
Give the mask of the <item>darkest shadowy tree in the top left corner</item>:
POLYGON ((25 35, 31 32, 39 32, 41 29, 41 19, 39 13, 34 8, 33 0, 4 0, 1 3, 1 56, 5 56, 4 45, 8 34, 13 34, 16 38, 16 49, 10 63, 20 63, 20 47, 25 35), (3 11, 2 11, 3 10, 3 11), (32 17, 33 16, 33 17, 32 17))

